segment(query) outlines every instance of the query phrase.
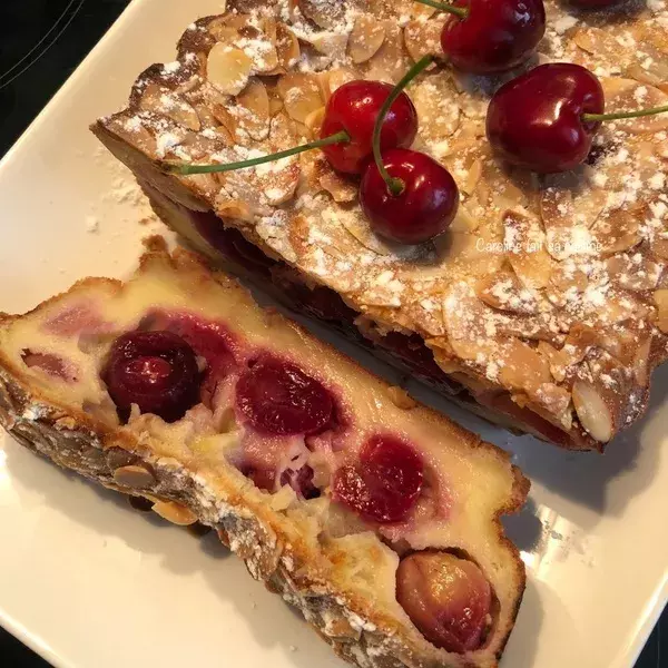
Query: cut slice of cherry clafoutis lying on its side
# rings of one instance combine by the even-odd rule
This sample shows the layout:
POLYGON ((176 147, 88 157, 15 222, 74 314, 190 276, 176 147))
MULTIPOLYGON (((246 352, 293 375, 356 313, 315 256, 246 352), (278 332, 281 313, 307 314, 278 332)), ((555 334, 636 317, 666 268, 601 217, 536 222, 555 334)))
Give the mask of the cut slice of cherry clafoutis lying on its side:
POLYGON ((199 521, 360 666, 492 667, 524 568, 499 518, 529 482, 237 283, 153 239, 0 322, 18 441, 199 521))

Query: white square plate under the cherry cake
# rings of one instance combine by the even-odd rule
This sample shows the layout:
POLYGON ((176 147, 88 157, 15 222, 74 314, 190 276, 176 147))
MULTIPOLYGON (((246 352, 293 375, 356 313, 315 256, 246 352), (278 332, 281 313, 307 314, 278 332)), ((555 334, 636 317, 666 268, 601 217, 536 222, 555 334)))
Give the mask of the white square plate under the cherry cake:
MULTIPOLYGON (((160 227, 88 125, 124 104, 147 65, 173 58, 193 19, 220 10, 135 0, 6 156, 0 308, 22 312, 81 276, 134 266, 140 237, 160 227)), ((645 420, 605 456, 511 438, 419 391, 517 453, 533 480, 508 522, 529 586, 503 666, 632 666, 668 596, 667 372, 645 420)), ((147 521, 6 436, 0 534, 0 622, 58 667, 343 666, 213 539, 147 521)))

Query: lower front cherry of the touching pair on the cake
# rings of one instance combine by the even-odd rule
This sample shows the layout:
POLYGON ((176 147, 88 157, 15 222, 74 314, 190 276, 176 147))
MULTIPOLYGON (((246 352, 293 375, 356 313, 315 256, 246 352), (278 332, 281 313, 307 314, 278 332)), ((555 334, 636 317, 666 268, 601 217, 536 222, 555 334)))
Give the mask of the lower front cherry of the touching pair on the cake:
POLYGON ((450 171, 428 155, 404 148, 382 154, 389 174, 404 183, 393 195, 375 163, 360 185, 360 204, 372 229, 400 244, 422 244, 445 232, 459 208, 459 190, 450 171))

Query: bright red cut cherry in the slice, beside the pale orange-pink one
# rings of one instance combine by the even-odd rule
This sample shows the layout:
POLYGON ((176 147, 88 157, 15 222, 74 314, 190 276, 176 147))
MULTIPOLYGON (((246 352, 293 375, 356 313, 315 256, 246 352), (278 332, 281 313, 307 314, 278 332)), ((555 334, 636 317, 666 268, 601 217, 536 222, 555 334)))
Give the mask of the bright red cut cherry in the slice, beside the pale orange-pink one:
POLYGON ((418 502, 423 469, 420 455, 403 441, 374 436, 360 451, 356 464, 336 471, 333 498, 371 522, 400 522, 418 502))

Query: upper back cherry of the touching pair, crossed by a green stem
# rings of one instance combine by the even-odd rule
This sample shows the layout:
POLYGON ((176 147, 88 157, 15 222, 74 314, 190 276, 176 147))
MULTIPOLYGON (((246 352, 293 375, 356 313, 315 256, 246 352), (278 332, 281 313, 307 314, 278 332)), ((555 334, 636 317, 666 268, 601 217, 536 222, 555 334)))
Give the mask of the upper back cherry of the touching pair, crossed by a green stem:
MULTIPOLYGON (((337 88, 325 109, 321 137, 345 130, 351 141, 325 146, 325 157, 338 171, 362 174, 372 155, 373 128, 392 86, 381 81, 348 81, 337 88)), ((418 134, 418 111, 405 92, 390 110, 381 130, 381 148, 407 147, 418 134)))

